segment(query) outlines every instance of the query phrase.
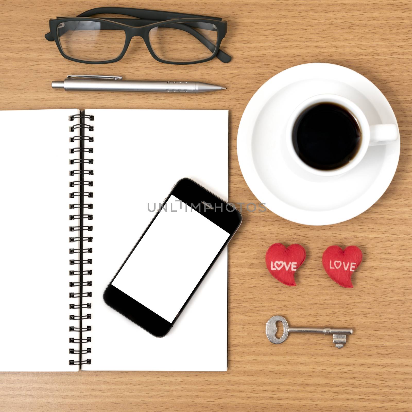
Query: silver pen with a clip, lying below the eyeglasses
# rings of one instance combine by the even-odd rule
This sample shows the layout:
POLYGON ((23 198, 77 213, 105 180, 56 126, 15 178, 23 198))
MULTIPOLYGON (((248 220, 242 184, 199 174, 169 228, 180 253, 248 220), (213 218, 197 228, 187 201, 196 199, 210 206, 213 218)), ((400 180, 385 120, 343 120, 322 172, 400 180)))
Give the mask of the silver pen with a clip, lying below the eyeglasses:
POLYGON ((201 82, 150 82, 122 80, 121 76, 69 75, 63 82, 52 82, 53 89, 95 91, 156 91, 165 93, 203 93, 226 87, 201 82))

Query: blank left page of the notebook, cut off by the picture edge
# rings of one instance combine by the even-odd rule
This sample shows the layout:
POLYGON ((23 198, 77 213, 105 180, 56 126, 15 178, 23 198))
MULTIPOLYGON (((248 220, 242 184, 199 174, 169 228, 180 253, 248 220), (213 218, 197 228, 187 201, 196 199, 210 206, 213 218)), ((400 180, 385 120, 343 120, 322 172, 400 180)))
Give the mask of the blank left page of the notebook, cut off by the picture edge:
POLYGON ((78 369, 68 363, 77 346, 68 343, 68 117, 77 113, 0 112, 2 371, 78 369))

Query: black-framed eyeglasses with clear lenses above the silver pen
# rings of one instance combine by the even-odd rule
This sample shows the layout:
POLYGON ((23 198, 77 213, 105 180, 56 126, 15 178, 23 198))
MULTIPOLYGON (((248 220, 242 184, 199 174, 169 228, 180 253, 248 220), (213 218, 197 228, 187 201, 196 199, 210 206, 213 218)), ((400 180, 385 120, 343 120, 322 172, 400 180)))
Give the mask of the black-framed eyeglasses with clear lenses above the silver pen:
POLYGON ((122 59, 134 36, 143 37, 154 59, 162 63, 193 64, 232 57, 219 49, 227 22, 219 17, 196 16, 126 7, 97 7, 77 17, 50 19, 50 33, 63 57, 80 63, 103 64, 122 59), (94 14, 137 17, 91 18, 94 14))

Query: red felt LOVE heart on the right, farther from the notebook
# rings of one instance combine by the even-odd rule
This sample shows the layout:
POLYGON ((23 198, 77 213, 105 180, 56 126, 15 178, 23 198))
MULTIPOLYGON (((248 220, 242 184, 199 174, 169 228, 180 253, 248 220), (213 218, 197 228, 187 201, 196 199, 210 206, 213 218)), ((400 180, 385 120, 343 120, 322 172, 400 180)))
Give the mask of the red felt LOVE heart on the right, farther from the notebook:
POLYGON ((339 246, 329 246, 322 256, 323 267, 330 279, 344 288, 353 288, 351 277, 362 262, 362 251, 357 246, 345 250, 339 246))

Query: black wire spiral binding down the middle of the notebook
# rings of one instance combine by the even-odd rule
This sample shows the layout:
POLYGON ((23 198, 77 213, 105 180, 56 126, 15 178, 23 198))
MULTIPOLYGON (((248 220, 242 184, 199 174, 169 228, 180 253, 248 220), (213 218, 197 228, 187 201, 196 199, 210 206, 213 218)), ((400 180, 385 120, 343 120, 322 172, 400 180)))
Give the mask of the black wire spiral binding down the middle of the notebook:
MULTIPOLYGON (((79 365, 82 369, 82 365, 89 365, 91 360, 88 356, 83 359, 82 355, 91 353, 91 348, 84 348, 83 344, 91 342, 91 337, 85 336, 83 332, 89 332, 91 330, 90 325, 84 325, 83 321, 91 319, 91 314, 84 313, 83 309, 91 309, 91 303, 83 302, 83 298, 91 297, 91 292, 87 290, 91 286, 91 281, 83 280, 83 276, 91 275, 91 269, 86 269, 86 265, 91 265, 91 258, 86 258, 84 255, 87 253, 92 253, 93 249, 89 248, 86 244, 93 241, 92 236, 87 236, 86 232, 91 232, 93 226, 88 225, 86 221, 92 220, 93 215, 89 213, 89 209, 93 208, 93 204, 85 203, 84 199, 93 197, 93 192, 89 189, 87 192, 84 191, 84 187, 93 187, 93 181, 89 180, 90 176, 93 176, 93 170, 85 170, 85 165, 92 165, 93 159, 86 159, 85 156, 89 157, 93 153, 93 148, 85 147, 85 142, 93 142, 93 137, 86 136, 85 130, 93 131, 94 126, 90 124, 85 124, 85 120, 88 122, 93 122, 94 116, 85 115, 84 111, 80 111, 80 114, 73 115, 69 117, 70 122, 76 122, 70 126, 70 132, 76 132, 76 136, 69 138, 70 143, 77 143, 77 147, 70 149, 71 154, 77 154, 77 159, 70 159, 71 165, 77 165, 76 170, 70 171, 70 176, 75 176, 76 180, 70 181, 69 186, 75 187, 76 192, 70 192, 70 199, 77 198, 76 202, 70 204, 70 210, 76 209, 75 214, 69 215, 69 220, 75 221, 73 226, 69 227, 70 232, 77 232, 73 237, 69 237, 70 243, 77 243, 73 245, 75 247, 69 249, 70 255, 76 254, 77 258, 70 259, 70 265, 77 265, 78 270, 70 270, 70 276, 78 276, 78 279, 74 278, 74 281, 69 282, 70 288, 76 288, 75 291, 70 291, 69 297, 77 300, 77 303, 71 303, 69 305, 70 311, 74 311, 70 314, 69 319, 72 322, 76 322, 76 325, 70 325, 70 332, 77 332, 77 337, 70 337, 69 343, 74 343, 78 345, 78 349, 69 349, 69 354, 77 355, 77 360, 70 359, 69 365, 79 365), (88 176, 88 180, 84 179, 84 176, 88 176), (87 210, 87 211, 86 211, 87 210)), ((72 212, 73 213, 73 212, 72 212)), ((73 279, 73 278, 72 278, 73 279)))

